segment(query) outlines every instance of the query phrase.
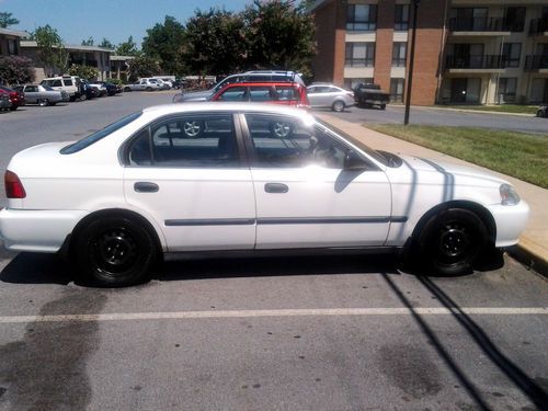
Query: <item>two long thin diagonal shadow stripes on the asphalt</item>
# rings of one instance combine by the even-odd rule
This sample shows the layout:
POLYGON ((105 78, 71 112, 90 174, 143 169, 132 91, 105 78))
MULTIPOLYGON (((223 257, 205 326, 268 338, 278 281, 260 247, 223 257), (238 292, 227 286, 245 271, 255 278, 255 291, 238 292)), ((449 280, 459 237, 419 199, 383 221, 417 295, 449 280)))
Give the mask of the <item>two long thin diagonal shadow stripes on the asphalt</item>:
MULTIPOLYGON (((411 315, 423 334, 432 343, 437 354, 446 363, 448 368, 460 381, 461 386, 468 392, 470 398, 476 402, 479 410, 491 410, 491 407, 481 396, 480 391, 476 388, 473 383, 468 378, 466 373, 459 367, 457 361, 449 354, 448 350, 444 346, 442 341, 436 335, 426 320, 419 313, 413 304, 406 297, 404 293, 398 285, 390 278, 389 273, 383 273, 388 286, 400 299, 400 301, 411 311, 411 315)), ((432 293, 441 304, 450 311, 453 318, 463 327, 471 340, 484 353, 484 355, 496 366, 539 410, 546 410, 548 407, 548 393, 537 384, 534 379, 528 377, 517 365, 515 365, 509 357, 506 357, 492 342, 483 329, 478 326, 459 306, 445 292, 439 288, 431 278, 418 276, 419 282, 426 290, 432 293)))

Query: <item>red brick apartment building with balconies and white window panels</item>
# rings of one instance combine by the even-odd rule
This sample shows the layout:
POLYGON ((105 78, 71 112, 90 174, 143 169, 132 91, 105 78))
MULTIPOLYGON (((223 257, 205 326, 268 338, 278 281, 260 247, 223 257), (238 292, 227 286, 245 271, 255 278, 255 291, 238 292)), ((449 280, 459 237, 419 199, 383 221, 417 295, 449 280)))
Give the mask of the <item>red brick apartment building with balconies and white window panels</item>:
MULTIPOLYGON (((317 0, 316 81, 403 101, 412 0, 317 0)), ((421 0, 412 102, 548 102, 548 0, 421 0)))

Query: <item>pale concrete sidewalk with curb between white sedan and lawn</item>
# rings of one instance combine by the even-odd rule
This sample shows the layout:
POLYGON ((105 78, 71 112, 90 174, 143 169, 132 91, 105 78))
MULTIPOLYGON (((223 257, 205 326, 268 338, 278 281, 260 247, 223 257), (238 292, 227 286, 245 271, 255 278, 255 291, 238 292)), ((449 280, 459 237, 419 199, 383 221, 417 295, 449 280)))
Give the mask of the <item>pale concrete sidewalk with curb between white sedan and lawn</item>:
POLYGON ((395 153, 401 152, 416 157, 425 157, 432 160, 450 161, 457 164, 466 164, 488 171, 491 174, 509 181, 512 185, 514 185, 520 196, 525 199, 530 207, 529 221, 525 231, 522 233, 522 237, 520 237, 520 243, 517 247, 510 249, 509 252, 524 264, 534 269, 536 272, 548 275, 548 190, 492 170, 488 170, 480 165, 443 155, 429 148, 374 132, 363 127, 361 124, 349 123, 329 114, 315 114, 323 121, 350 134, 352 137, 365 142, 370 148, 391 151, 395 153))

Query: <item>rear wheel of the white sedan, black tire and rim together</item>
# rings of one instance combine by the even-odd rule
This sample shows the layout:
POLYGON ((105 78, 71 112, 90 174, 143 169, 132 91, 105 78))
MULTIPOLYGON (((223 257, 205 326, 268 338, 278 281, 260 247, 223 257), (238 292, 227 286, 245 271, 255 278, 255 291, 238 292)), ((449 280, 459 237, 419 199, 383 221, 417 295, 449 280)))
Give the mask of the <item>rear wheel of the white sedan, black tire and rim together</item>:
POLYGON ((155 238, 133 218, 101 217, 78 233, 76 263, 84 281, 102 287, 144 282, 158 258, 155 238))

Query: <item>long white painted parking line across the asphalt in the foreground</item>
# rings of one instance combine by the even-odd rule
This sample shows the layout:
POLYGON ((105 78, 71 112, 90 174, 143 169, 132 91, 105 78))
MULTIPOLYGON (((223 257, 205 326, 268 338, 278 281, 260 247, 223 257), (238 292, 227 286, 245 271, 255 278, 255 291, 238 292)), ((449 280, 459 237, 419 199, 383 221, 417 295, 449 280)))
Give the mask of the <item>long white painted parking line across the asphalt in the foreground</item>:
POLYGON ((212 318, 254 318, 254 317, 329 317, 329 316, 447 316, 488 315, 488 316, 527 316, 548 315, 547 307, 468 307, 448 308, 326 308, 326 309, 277 309, 277 310, 228 310, 228 311, 174 311, 174 312, 115 312, 115 313, 82 313, 58 316, 5 316, 0 317, 0 323, 21 322, 65 322, 65 321, 130 321, 130 320, 186 320, 212 318))

